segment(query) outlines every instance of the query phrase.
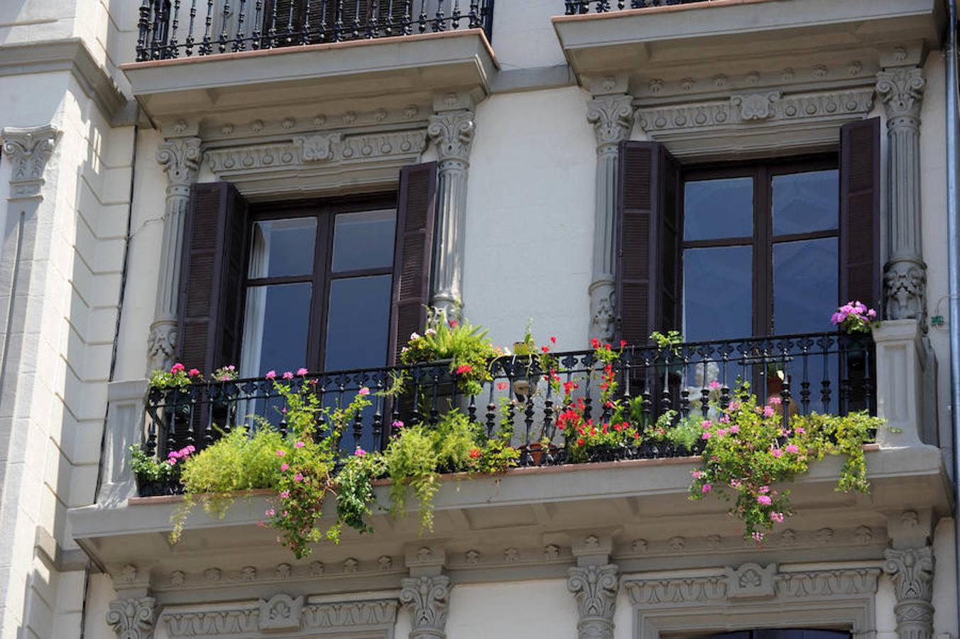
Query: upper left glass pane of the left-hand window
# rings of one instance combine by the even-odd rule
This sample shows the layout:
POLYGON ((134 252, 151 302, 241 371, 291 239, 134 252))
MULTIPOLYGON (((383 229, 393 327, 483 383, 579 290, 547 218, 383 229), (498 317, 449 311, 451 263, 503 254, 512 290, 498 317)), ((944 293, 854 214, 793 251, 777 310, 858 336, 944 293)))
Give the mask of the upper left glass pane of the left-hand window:
POLYGON ((316 238, 316 218, 257 222, 253 225, 248 277, 312 273, 316 238))

